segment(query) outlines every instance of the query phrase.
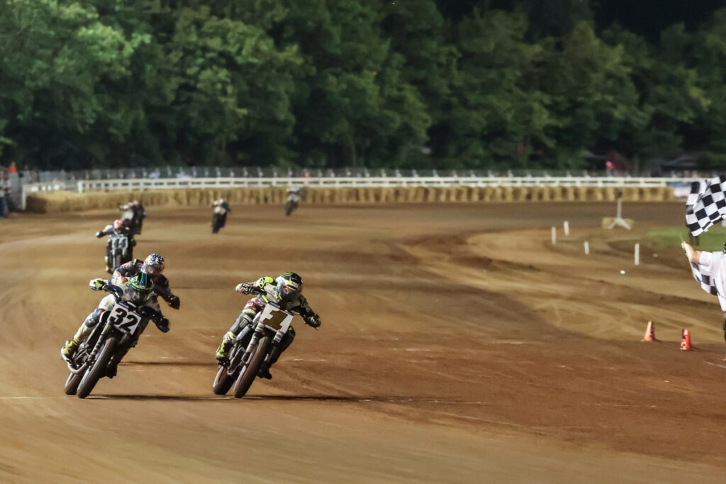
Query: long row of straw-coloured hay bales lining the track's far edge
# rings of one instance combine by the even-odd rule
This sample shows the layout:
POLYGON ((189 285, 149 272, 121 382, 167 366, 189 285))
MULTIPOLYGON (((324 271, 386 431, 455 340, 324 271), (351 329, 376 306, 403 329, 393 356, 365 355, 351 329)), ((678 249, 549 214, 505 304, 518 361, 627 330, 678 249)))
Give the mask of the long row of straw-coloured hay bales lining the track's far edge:
MULTIPOLYGON (((676 200, 668 187, 637 188, 594 186, 399 186, 375 188, 309 188, 306 203, 355 205, 425 202, 600 202, 616 200, 619 192, 627 202, 676 200)), ((176 189, 144 192, 44 192, 30 195, 26 210, 58 213, 116 208, 138 199, 147 206, 203 207, 218 198, 230 205, 282 205, 282 187, 235 189, 176 189)))

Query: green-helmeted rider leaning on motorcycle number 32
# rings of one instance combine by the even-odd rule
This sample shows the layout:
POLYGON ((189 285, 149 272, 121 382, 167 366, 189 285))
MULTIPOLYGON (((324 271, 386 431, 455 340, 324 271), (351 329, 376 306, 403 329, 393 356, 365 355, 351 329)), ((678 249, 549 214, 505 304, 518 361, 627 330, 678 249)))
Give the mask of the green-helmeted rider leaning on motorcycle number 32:
MULTIPOLYGON (((151 278, 147 274, 138 274, 132 279, 127 279, 125 281, 117 279, 114 281, 114 284, 107 284, 104 279, 100 278, 91 279, 89 287, 91 287, 94 291, 109 288, 111 291, 120 293, 121 299, 124 301, 134 303, 134 305, 139 307, 146 306, 151 308, 152 316, 150 316, 149 319, 154 321, 154 324, 156 324, 161 332, 168 332, 169 320, 161 313, 159 304, 156 302, 156 298, 153 295, 154 284, 151 282, 151 278)), ((76 335, 73 336, 73 339, 66 342, 65 347, 61 350, 63 358, 66 360, 73 358, 73 355, 76 354, 76 350, 78 350, 78 346, 88 339, 91 332, 93 332, 94 327, 96 327, 99 322, 105 321, 105 318, 107 317, 105 314, 113 308, 115 303, 116 300, 113 294, 107 295, 101 300, 98 308, 90 313, 85 320, 83 320, 81 327, 78 328, 78 331, 76 332, 76 335)), ((138 335, 141 335, 142 332, 143 328, 136 332, 136 341, 129 345, 129 348, 133 348, 136 345, 138 335)), ((115 369, 111 369, 108 376, 115 376, 115 369)))

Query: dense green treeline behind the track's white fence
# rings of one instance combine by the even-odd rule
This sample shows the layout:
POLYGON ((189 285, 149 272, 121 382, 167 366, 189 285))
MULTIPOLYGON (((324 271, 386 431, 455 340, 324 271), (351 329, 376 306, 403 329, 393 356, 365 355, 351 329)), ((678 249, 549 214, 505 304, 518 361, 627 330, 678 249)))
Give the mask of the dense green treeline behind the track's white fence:
POLYGON ((0 164, 579 168, 588 151, 685 149, 726 165, 726 9, 655 40, 598 15, 585 0, 0 0, 0 164))

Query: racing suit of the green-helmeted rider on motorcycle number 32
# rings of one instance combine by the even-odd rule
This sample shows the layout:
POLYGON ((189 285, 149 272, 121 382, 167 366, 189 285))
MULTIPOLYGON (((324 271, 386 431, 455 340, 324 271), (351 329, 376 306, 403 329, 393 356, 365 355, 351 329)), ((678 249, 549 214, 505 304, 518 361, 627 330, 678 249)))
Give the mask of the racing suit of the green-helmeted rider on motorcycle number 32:
MULTIPOLYGON (((131 287, 131 284, 132 282, 134 282, 134 280, 135 279, 116 279, 113 281, 113 284, 107 284, 107 281, 105 279, 91 279, 91 281, 89 282, 89 287, 91 287, 91 289, 94 291, 103 290, 105 287, 107 287, 110 292, 117 292, 118 294, 121 294, 121 300, 134 303, 139 308, 145 306, 152 309, 152 315, 149 316, 149 319, 151 321, 154 321, 160 331, 167 332, 169 330, 169 321, 161 313, 156 296, 153 295, 152 292, 148 292, 147 297, 143 300, 139 301, 138 298, 134 298, 134 288, 131 287)), ((73 335, 73 339, 68 341, 68 343, 66 343, 65 347, 62 349, 61 353, 63 358, 67 360, 73 358, 76 350, 78 350, 78 346, 81 345, 83 341, 88 339, 88 337, 91 335, 91 332, 93 332, 93 329, 97 326, 97 324, 99 324, 99 322, 105 321, 105 319, 108 317, 107 315, 109 311, 113 309, 115 303, 116 299, 113 294, 109 294, 101 300, 98 308, 96 308, 93 312, 86 316, 86 319, 84 319, 81 323, 81 327, 78 328, 76 335, 73 335)), ((145 322, 143 324, 145 327, 145 324, 148 323, 148 320, 144 319, 144 321, 145 322)), ((136 345, 139 335, 141 335, 144 331, 144 327, 139 327, 139 330, 136 332, 136 340, 134 340, 134 342, 129 345, 129 348, 133 348, 136 345)))

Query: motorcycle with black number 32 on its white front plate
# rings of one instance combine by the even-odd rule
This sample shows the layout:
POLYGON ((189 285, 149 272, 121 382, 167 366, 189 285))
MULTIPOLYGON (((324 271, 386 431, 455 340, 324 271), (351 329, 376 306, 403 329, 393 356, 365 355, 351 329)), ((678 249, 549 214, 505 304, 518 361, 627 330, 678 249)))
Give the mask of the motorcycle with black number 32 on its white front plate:
POLYGON ((102 377, 115 377, 116 366, 134 348, 150 319, 163 331, 160 313, 148 306, 122 300, 123 292, 119 287, 106 284, 103 289, 114 295, 116 303, 101 316, 101 321, 81 343, 73 358, 66 360, 70 371, 65 380, 66 395, 86 398, 102 377))

